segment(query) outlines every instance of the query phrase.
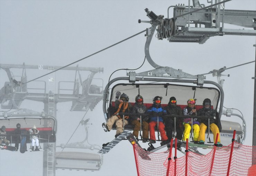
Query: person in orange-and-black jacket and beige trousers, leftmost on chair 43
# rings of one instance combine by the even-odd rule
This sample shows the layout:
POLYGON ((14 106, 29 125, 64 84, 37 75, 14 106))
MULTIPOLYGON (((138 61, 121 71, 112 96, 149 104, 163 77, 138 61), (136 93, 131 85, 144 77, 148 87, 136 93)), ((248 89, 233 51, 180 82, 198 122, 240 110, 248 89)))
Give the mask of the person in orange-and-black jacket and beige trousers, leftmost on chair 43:
MULTIPOLYGON (((120 92, 117 92, 117 96, 120 92)), ((123 113, 129 113, 131 111, 132 105, 130 103, 128 103, 129 101, 129 97, 123 93, 120 96, 120 99, 118 100, 118 97, 116 96, 116 104, 115 106, 118 107, 117 111, 108 119, 108 122, 106 124, 106 128, 107 131, 110 131, 112 129, 112 126, 114 123, 116 123, 116 127, 117 127, 117 132, 115 137, 119 136, 123 131, 124 131, 124 126, 123 125, 127 125, 129 124, 129 122, 127 121, 127 119, 129 118, 129 116, 125 116, 124 117, 124 122, 123 122, 123 118, 118 115, 119 112, 123 112, 123 113)))

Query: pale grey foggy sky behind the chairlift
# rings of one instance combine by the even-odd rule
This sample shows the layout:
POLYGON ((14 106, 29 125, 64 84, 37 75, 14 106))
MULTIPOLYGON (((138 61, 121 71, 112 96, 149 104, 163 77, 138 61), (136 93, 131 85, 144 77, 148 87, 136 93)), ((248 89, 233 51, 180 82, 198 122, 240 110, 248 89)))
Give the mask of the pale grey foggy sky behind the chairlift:
MULTIPOLYGON (((178 3, 188 5, 187 0, 0 0, 0 64, 25 63, 26 65, 65 66, 150 28, 149 23, 138 23, 138 19, 149 21, 144 11, 145 8, 167 18, 167 8, 178 3)), ((200 3, 204 3, 205 6, 209 5, 206 0, 200 0, 200 3)), ((256 10, 256 1, 233 0, 225 3, 225 8, 256 10)), ((172 17, 172 10, 170 17, 172 17)), ((243 27, 229 24, 225 24, 225 28, 243 29, 243 27)), ((112 72, 118 69, 136 69, 143 63, 146 42, 144 34, 139 34, 71 66, 78 64, 81 67, 104 68, 103 73, 97 73, 94 77, 103 79, 103 88, 105 88, 112 72)), ((255 61, 255 47, 253 46, 255 41, 255 36, 239 35, 210 37, 204 44, 170 43, 166 39, 157 40, 156 37, 153 37, 149 51, 151 58, 158 65, 182 69, 186 73, 198 75, 214 69, 218 70, 223 66, 230 68, 255 61)), ((143 66, 136 70, 136 73, 153 69, 145 61, 143 66)), ((20 79, 22 69, 11 69, 11 72, 20 79)), ((127 72, 127 70, 117 71, 110 80, 115 77, 126 76, 127 72)), ((28 80, 46 73, 47 70, 26 70, 28 80)), ((88 71, 81 71, 80 73, 82 80, 87 79, 90 74, 88 71)), ((253 138, 254 80, 252 77, 254 77, 254 73, 255 63, 232 68, 222 73, 230 75, 229 77, 222 77, 225 79, 223 84, 224 106, 239 109, 247 123, 245 145, 252 145, 253 138)), ((60 70, 55 74, 56 83, 74 81, 75 79, 75 71, 60 70)), ((48 76, 38 80, 48 81, 48 76)), ((208 74, 206 80, 217 82, 217 77, 208 74)), ((7 81, 9 81, 8 76, 1 69, 0 87, 2 88, 7 81)), ((35 83, 28 85, 31 87, 38 86, 35 83)), ((164 99, 168 98, 170 97, 164 97, 164 99)), ((85 114, 85 112, 71 112, 71 105, 72 102, 57 104, 56 145, 67 143, 85 114)), ((25 100, 20 108, 42 112, 44 104, 25 100)), ((5 109, 0 110, 7 111, 5 109)), ((236 110, 234 113, 239 114, 236 110)), ((90 144, 102 146, 103 143, 114 139, 115 131, 106 133, 101 126, 103 122, 106 122, 102 111, 102 101, 95 106, 93 111, 88 111, 84 120, 88 118, 90 118, 89 123, 91 124, 88 125, 88 142, 90 144)), ((241 123, 241 120, 234 117, 222 116, 222 120, 241 123)), ((80 142, 84 139, 84 127, 79 125, 69 143, 80 142)), ((142 145, 147 146, 147 144, 142 145)), ((27 146, 29 148, 29 144, 27 146)), ((60 151, 60 149, 58 150, 60 151)), ((90 151, 88 149, 84 149, 83 152, 97 153, 95 150, 90 151)), ((20 152, 0 150, 1 176, 42 175, 42 166, 43 152, 21 154, 20 152)), ((134 154, 128 141, 120 142, 109 153, 103 155, 103 163, 99 171, 56 170, 56 176, 133 176, 136 174, 134 154)))

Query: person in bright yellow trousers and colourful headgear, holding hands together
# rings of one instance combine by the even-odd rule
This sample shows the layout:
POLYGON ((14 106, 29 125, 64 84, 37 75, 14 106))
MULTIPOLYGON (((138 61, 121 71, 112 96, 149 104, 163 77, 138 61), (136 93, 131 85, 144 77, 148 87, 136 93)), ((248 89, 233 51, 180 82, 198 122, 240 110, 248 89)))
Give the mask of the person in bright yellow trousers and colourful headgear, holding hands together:
MULTIPOLYGON (((196 101, 196 99, 188 100, 188 106, 186 106, 183 109, 183 115, 197 115, 196 108, 195 108, 195 101, 196 101)), ((194 143, 198 144, 200 127, 199 127, 199 122, 197 121, 197 118, 193 118, 193 122, 191 121, 191 118, 185 118, 183 120, 183 126, 184 126, 183 140, 186 141, 186 139, 189 138, 192 123, 193 123, 192 126, 193 126, 193 132, 194 132, 194 143)))

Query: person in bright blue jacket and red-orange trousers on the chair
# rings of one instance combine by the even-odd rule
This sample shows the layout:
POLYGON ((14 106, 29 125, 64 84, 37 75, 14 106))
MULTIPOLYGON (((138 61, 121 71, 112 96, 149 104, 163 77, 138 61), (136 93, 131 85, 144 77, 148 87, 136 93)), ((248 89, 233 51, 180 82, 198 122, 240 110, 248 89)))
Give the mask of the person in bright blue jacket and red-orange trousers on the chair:
POLYGON ((149 142, 154 144, 156 143, 156 136, 155 136, 155 126, 158 124, 158 131, 161 135, 161 145, 167 144, 168 137, 164 131, 164 123, 163 123, 163 115, 167 114, 166 111, 161 106, 162 97, 155 96, 153 99, 153 105, 150 107, 147 112, 150 116, 149 118, 149 134, 150 140, 149 142))

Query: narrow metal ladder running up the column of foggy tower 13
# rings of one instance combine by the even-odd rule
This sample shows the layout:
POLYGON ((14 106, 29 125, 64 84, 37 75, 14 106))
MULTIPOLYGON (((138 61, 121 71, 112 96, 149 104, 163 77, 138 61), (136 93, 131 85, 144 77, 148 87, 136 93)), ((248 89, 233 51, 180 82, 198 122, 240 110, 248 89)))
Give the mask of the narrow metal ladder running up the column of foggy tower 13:
MULTIPOLYGON (((55 111, 55 72, 54 66, 48 66, 48 115, 54 116, 55 111), (53 73, 51 73, 53 72, 53 73)), ((49 118, 49 116, 48 116, 49 118)), ((48 143, 47 147, 47 176, 54 176, 54 143, 48 143)))

